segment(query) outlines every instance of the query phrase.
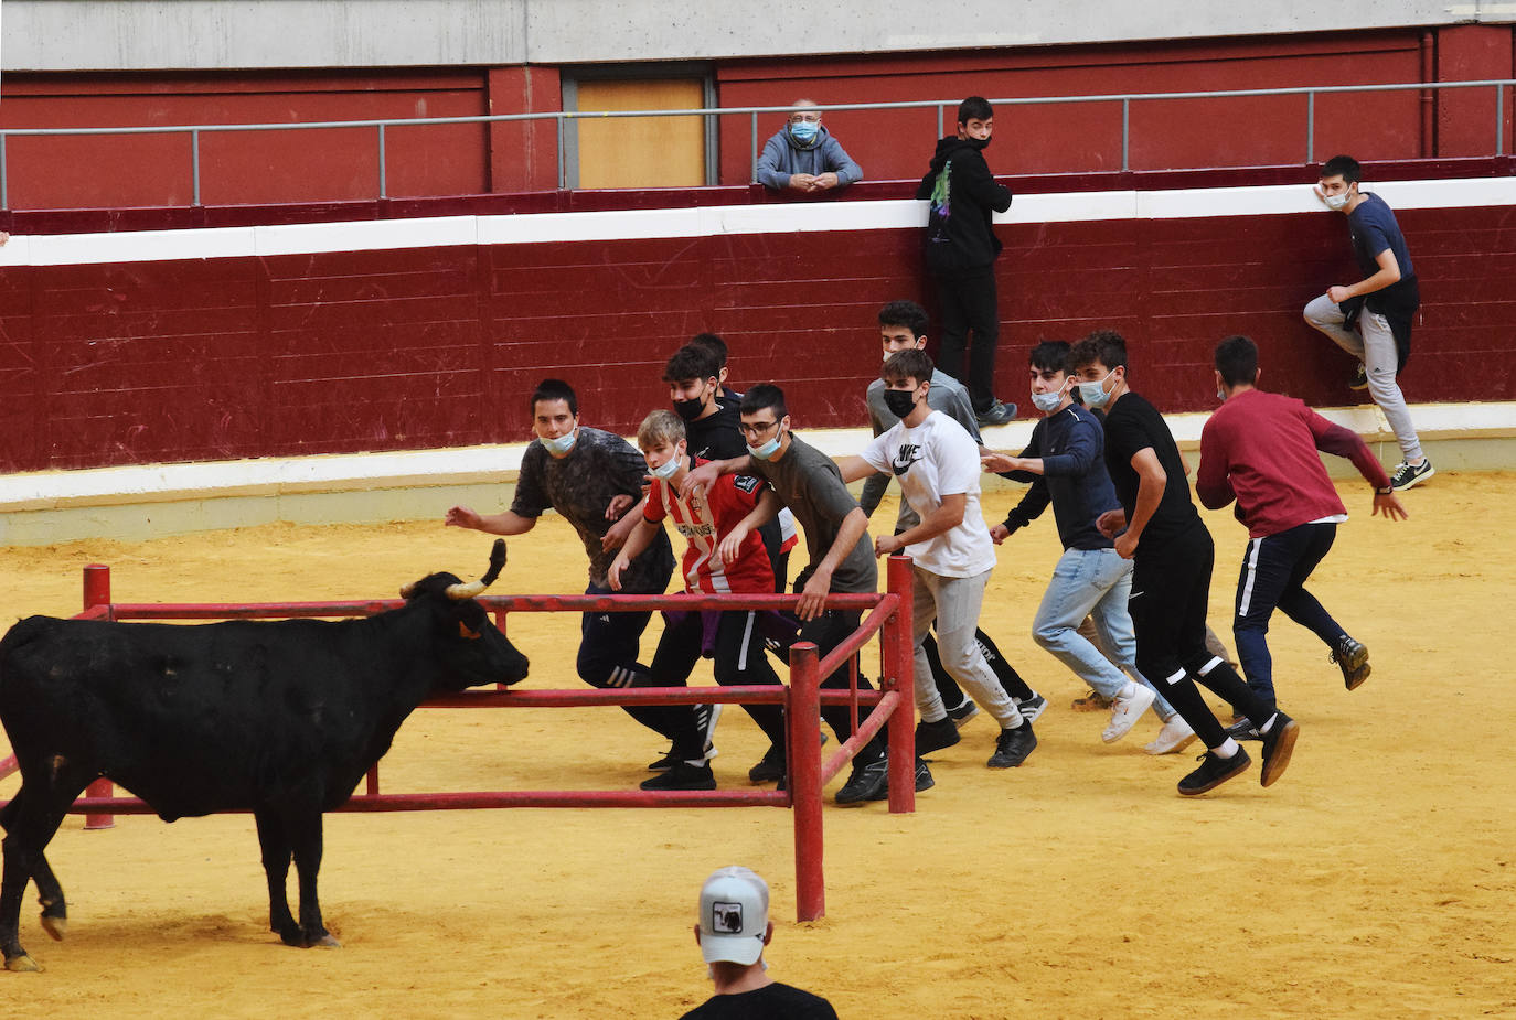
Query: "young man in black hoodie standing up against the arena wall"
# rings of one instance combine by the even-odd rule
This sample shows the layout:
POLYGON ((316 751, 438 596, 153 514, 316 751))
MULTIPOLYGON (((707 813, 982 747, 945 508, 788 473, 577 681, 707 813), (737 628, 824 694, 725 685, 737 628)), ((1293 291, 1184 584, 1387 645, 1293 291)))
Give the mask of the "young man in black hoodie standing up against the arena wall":
POLYGON ((994 183, 984 162, 993 130, 994 111, 984 97, 970 95, 958 103, 958 133, 938 139, 931 170, 916 189, 917 199, 931 200, 926 268, 937 280, 943 327, 937 367, 969 386, 979 424, 1004 424, 1016 417, 1014 403, 994 399, 994 347, 1001 333, 994 259, 1001 241, 991 217, 1011 208, 1011 189, 994 183))

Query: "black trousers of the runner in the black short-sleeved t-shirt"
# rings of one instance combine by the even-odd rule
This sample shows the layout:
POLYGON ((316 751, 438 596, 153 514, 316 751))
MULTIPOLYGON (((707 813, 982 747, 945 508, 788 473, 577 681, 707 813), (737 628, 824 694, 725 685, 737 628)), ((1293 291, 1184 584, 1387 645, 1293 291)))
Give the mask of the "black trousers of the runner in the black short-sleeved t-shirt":
POLYGON ((1205 647, 1205 609, 1211 594, 1216 546, 1204 524, 1152 547, 1137 547, 1132 594, 1126 603, 1137 634, 1137 670, 1163 693, 1205 743, 1219 747, 1225 727, 1216 721, 1195 684, 1204 684, 1254 726, 1273 706, 1254 694, 1237 670, 1205 647))

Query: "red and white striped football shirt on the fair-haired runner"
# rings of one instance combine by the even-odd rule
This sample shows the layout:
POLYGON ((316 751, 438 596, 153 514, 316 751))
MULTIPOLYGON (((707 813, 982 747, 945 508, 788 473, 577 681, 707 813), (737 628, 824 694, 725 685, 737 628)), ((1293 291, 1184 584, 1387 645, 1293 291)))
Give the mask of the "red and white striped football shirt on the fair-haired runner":
MULTIPOLYGON (((699 458, 694 462, 705 464, 699 458)), ((690 541, 682 564, 687 593, 773 591, 773 567, 756 530, 747 532, 732 562, 722 564, 716 555, 722 540, 758 505, 763 491, 760 479, 723 474, 703 497, 693 493, 681 499, 678 491, 653 479, 643 517, 653 524, 667 517, 690 541)))

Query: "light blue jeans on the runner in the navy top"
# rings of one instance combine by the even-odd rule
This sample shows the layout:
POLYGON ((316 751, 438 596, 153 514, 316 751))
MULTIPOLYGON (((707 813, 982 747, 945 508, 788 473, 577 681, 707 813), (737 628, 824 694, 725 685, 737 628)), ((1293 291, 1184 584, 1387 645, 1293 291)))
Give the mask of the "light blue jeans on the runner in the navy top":
POLYGON ((1132 562, 1117 556, 1114 549, 1066 549, 1032 618, 1032 640, 1105 697, 1116 697, 1126 687, 1125 670, 1158 694, 1154 711, 1167 721, 1173 708, 1137 671, 1137 637, 1126 612, 1131 591, 1132 562), (1079 634, 1085 615, 1095 620, 1095 630, 1114 665, 1079 634))

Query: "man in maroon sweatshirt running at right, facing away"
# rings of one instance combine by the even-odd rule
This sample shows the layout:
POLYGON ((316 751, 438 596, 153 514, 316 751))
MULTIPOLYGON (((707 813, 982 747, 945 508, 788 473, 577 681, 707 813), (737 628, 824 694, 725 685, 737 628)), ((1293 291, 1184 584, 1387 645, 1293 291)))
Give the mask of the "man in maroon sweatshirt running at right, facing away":
MULTIPOLYGON (((1293 397, 1264 393, 1257 383, 1258 347, 1246 336, 1220 341, 1216 396, 1222 406, 1201 432, 1195 493, 1210 509, 1236 499, 1237 517, 1248 526, 1233 621, 1237 658, 1248 687, 1272 705, 1273 661, 1266 635, 1278 606, 1326 643, 1351 691, 1369 677, 1369 650, 1305 591, 1305 580, 1337 537, 1337 524, 1348 520, 1317 450, 1352 461, 1373 487, 1375 515, 1404 520, 1405 508, 1355 432, 1333 424, 1293 397)), ((1234 731, 1248 727, 1243 721, 1234 731)))

